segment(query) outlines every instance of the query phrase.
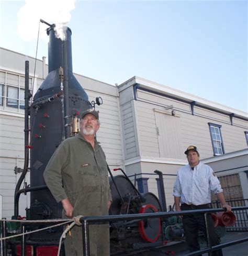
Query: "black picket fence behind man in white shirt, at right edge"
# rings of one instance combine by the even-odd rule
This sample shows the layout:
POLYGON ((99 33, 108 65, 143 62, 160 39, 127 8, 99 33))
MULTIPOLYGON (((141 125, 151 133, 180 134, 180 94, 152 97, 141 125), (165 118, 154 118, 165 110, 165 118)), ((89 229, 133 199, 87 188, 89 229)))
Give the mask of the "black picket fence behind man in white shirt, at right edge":
MULTIPOLYGON (((248 199, 233 199, 227 201, 229 205, 232 206, 232 208, 235 207, 243 207, 248 206, 248 199)), ((221 204, 219 201, 213 201, 211 203, 212 208, 218 208, 221 207, 221 204)), ((235 225, 232 227, 227 227, 227 231, 248 231, 248 209, 243 210, 232 210, 233 213, 236 216, 236 222, 235 225)))

